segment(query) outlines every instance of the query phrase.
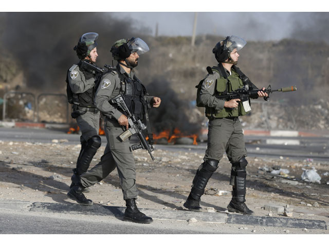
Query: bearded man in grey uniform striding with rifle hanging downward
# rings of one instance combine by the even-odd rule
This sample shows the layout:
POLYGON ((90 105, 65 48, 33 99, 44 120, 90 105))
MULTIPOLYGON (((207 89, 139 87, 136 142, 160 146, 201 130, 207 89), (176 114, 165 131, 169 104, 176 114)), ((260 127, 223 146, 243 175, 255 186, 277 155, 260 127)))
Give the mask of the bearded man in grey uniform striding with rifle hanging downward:
POLYGON ((141 213, 136 206, 138 190, 133 153, 129 139, 121 141, 118 138, 129 127, 128 119, 124 112, 111 105, 109 101, 119 94, 123 95, 130 112, 141 120, 148 120, 149 108, 160 106, 161 99, 148 96, 134 71, 138 65, 139 55, 148 51, 148 45, 142 39, 134 37, 120 39, 112 46, 111 52, 118 64, 102 76, 95 96, 95 104, 105 118, 107 145, 101 161, 88 172, 77 176, 75 186, 69 192, 79 203, 91 205, 92 201, 86 199, 82 193, 83 188, 101 181, 117 168, 127 207, 124 220, 137 223, 151 223, 153 220, 141 213))

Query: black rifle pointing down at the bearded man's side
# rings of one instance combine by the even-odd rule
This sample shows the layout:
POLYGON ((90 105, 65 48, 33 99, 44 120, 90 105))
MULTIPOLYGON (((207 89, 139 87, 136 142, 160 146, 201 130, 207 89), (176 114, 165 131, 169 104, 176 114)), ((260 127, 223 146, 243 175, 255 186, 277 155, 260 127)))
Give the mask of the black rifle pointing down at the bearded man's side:
POLYGON ((135 115, 131 114, 126 104, 124 103, 122 95, 117 95, 116 97, 111 99, 111 103, 120 107, 120 109, 127 114, 128 122, 130 125, 130 128, 128 128, 128 130, 124 131, 123 133, 121 133, 119 135, 119 138, 122 141, 124 141, 125 139, 129 138, 131 135, 137 133, 137 137, 140 141, 140 144, 132 145, 132 150, 137 150, 137 149, 147 150, 152 160, 154 160, 154 157, 151 153, 152 151, 154 151, 154 148, 152 145, 151 146, 149 145, 148 141, 144 137, 144 134, 142 133, 142 131, 145 130, 147 127, 142 123, 140 119, 137 120, 135 115))

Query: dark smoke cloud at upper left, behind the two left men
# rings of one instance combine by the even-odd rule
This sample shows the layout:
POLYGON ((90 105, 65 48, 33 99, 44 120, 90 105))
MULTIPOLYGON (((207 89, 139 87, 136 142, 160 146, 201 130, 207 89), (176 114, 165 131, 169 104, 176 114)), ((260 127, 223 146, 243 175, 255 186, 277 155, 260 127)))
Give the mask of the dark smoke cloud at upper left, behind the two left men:
POLYGON ((97 64, 102 66, 111 64, 109 50, 116 40, 149 32, 132 19, 117 20, 111 13, 5 13, 0 20, 2 49, 24 71, 27 87, 43 91, 65 88, 67 69, 78 61, 73 47, 83 33, 99 34, 97 64))

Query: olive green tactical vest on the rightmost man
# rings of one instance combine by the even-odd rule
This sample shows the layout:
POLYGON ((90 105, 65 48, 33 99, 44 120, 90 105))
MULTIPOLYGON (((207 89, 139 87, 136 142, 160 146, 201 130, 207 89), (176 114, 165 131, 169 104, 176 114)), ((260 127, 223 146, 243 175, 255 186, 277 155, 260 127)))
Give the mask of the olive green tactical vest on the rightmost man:
MULTIPOLYGON (((213 69, 214 72, 220 74, 217 70, 213 69)), ((222 93, 226 90, 230 93, 235 91, 236 89, 243 87, 242 79, 239 74, 231 69, 231 75, 227 76, 227 79, 221 76, 216 80, 216 89, 215 95, 222 95, 222 93)), ((238 102, 239 106, 235 109, 224 108, 222 110, 215 110, 213 108, 206 107, 206 116, 211 118, 226 118, 226 117, 237 117, 247 114, 244 110, 241 101, 238 102)))

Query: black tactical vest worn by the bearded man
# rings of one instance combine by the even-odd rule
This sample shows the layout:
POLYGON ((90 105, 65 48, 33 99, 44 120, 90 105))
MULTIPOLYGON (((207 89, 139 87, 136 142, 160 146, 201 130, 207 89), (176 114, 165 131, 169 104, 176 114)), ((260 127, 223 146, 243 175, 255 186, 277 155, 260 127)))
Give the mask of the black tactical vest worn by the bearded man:
MULTIPOLYGON (((133 78, 127 77, 119 73, 116 68, 112 69, 112 72, 118 74, 120 78, 120 94, 123 95, 124 103, 127 108, 136 118, 143 120, 145 112, 150 108, 146 98, 147 92, 145 87, 141 84, 136 75, 134 75, 133 78)), ((125 112, 122 112, 119 108, 117 109, 122 114, 126 115, 125 112)))

